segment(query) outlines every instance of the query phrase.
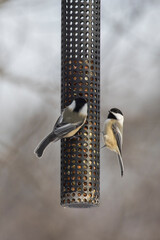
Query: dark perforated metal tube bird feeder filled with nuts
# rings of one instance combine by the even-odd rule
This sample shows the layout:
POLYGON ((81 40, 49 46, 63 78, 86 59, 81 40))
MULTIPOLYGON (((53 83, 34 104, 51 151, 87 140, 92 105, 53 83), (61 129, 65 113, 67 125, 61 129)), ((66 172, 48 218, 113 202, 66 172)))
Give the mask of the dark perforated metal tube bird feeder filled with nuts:
POLYGON ((77 138, 61 140, 61 205, 99 205, 100 0, 62 0, 61 109, 77 97, 88 116, 77 138))

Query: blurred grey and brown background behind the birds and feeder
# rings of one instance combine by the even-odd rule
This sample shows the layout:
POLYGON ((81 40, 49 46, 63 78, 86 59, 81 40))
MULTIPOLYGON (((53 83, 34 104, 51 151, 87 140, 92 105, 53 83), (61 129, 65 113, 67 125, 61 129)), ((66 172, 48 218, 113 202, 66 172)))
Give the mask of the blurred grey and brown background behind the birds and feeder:
MULTIPOLYGON (((101 126, 125 116, 120 177, 101 151, 101 204, 60 206, 61 3, 0 0, 0 239, 160 239, 160 1, 101 1, 101 126)), ((101 142, 101 145, 103 143, 101 142)))

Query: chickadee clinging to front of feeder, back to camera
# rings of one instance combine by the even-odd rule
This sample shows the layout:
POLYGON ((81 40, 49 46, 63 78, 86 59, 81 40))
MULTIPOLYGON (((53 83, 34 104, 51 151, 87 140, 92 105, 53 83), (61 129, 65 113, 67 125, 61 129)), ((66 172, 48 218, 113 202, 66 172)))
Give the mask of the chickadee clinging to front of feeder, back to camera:
POLYGON ((76 98, 63 111, 54 125, 53 131, 45 137, 35 149, 35 154, 41 157, 44 149, 51 142, 62 138, 73 137, 83 126, 87 118, 87 102, 84 98, 76 98))

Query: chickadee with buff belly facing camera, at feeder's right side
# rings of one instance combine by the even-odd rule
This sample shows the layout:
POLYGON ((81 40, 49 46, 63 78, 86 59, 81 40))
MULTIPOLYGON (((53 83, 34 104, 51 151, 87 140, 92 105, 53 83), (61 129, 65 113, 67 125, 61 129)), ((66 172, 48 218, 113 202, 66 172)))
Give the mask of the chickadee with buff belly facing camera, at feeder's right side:
POLYGON ((123 176, 124 165, 122 160, 122 142, 123 142, 123 113, 117 109, 109 110, 108 118, 104 122, 103 138, 105 145, 118 155, 118 160, 121 168, 121 176, 123 176))

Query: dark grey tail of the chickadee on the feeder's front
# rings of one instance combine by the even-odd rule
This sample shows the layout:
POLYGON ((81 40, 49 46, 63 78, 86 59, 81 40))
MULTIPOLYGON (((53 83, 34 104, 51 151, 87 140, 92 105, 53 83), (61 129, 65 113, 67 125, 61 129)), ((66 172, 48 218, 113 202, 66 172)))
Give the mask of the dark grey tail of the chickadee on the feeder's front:
POLYGON ((54 133, 50 133, 40 142, 40 144, 35 149, 34 153, 36 154, 37 157, 40 158, 43 155, 43 152, 45 148, 48 146, 48 144, 50 144, 51 142, 56 142, 58 140, 59 138, 57 137, 57 135, 55 135, 54 133))

